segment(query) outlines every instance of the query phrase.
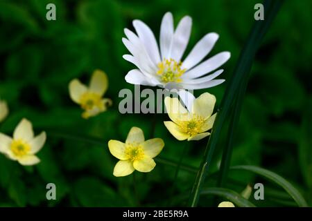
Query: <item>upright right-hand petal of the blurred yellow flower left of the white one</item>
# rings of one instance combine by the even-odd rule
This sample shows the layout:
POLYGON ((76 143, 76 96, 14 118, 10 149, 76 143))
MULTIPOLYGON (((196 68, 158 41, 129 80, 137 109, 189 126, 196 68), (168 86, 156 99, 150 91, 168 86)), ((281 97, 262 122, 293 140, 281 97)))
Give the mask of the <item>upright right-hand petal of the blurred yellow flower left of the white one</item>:
POLYGON ((107 86, 107 75, 102 70, 95 70, 92 74, 89 90, 102 97, 107 90, 107 86))

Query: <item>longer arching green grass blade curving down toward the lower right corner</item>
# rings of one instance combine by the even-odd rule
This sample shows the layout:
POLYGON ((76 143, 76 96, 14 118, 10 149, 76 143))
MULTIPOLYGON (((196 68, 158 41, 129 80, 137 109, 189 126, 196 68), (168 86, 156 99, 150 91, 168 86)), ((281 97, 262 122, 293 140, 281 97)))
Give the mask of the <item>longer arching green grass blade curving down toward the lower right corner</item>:
POLYGON ((293 200, 298 204, 298 206, 306 207, 308 204, 306 204, 306 200, 302 197, 299 191, 295 189, 295 187, 285 180, 280 175, 273 173, 272 171, 268 171, 266 169, 262 169, 259 166, 249 166, 249 165, 240 165, 240 166, 232 166, 230 169, 232 170, 245 170, 250 171, 252 173, 257 173, 258 175, 261 175, 263 177, 266 177, 266 179, 275 182, 277 185, 281 186, 285 191, 291 195, 293 200))

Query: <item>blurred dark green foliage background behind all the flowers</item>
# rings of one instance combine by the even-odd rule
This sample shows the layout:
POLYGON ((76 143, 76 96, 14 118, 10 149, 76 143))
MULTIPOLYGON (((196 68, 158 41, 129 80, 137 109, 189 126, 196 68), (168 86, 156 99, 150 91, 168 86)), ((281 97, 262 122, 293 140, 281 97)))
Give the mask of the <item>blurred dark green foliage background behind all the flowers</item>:
MULTIPOLYGON (((166 146, 159 155, 178 162, 185 142, 166 131, 167 115, 121 115, 119 90, 134 86, 124 80, 133 66, 122 59, 127 52, 121 42, 123 28, 141 19, 158 39, 165 12, 173 12, 175 23, 184 15, 193 18, 187 51, 207 32, 220 39, 211 55, 232 53, 223 78, 232 74, 239 52, 254 22, 254 4, 244 1, 101 1, 101 0, 14 0, 0 1, 0 97, 6 99, 10 115, 0 126, 12 133, 22 117, 34 124, 36 133, 48 134, 37 166, 23 167, 0 155, 0 206, 168 206, 184 205, 179 195, 189 193, 195 173, 180 170, 173 185, 175 167, 157 163, 147 174, 114 177, 117 160, 110 155, 110 139, 124 141, 132 126, 144 130, 166 146), (46 4, 55 3, 57 20, 46 20, 46 4), (80 108, 71 102, 69 81, 87 83, 93 70, 104 70, 110 81, 105 97, 113 100, 109 111, 82 119, 80 108), (153 119, 154 118, 154 119, 153 119), (92 137, 92 138, 90 138, 92 137), (98 142, 92 142, 98 140, 98 142), (57 186, 57 200, 46 200, 46 184, 57 186)), ((286 1, 268 31, 252 67, 243 104, 232 165, 253 164, 270 169, 304 193, 312 204, 312 2, 286 1)), ((227 83, 204 91, 217 97, 227 83)), ((225 128, 226 129, 226 128, 225 128)), ((226 136, 224 130, 223 137, 226 136)), ((191 142, 183 164, 198 167, 207 139, 191 142)), ((217 171, 225 139, 211 162, 217 171)), ((214 186, 216 177, 207 178, 214 186)), ((257 206, 293 206, 279 186, 256 175, 233 171, 227 188, 241 192, 247 184, 263 182, 266 200, 257 206)), ((216 206, 202 197, 201 206, 216 206)))

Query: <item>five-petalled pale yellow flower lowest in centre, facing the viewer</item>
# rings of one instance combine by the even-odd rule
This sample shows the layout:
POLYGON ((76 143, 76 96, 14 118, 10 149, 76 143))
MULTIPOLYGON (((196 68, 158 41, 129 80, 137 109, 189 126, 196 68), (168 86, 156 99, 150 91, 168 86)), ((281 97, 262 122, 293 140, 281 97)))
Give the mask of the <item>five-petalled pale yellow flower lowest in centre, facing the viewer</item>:
POLYGON ((164 141, 160 138, 144 140, 144 133, 140 128, 132 127, 125 143, 118 140, 108 142, 110 153, 119 159, 114 167, 114 176, 130 175, 133 171, 148 173, 156 166, 153 160, 164 148, 164 141))

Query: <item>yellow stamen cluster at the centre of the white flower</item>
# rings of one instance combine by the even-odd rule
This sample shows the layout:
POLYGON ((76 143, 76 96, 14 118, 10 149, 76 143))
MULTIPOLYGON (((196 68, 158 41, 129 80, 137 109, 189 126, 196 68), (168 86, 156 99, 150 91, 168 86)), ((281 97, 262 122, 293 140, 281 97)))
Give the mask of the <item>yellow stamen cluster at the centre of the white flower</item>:
POLYGON ((175 59, 164 59, 158 65, 157 75, 160 75, 160 80, 163 83, 181 82, 180 78, 185 69, 181 69, 182 62, 177 62, 175 59))

